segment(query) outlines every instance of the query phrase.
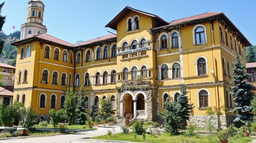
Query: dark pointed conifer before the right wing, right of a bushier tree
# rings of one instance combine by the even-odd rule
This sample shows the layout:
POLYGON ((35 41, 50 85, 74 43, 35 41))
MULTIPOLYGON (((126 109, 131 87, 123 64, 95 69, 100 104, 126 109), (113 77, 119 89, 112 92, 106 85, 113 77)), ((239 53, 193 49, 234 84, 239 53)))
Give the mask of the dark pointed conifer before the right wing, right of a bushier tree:
POLYGON ((187 95, 186 85, 181 85, 180 95, 178 96, 178 104, 181 105, 180 116, 183 120, 183 123, 186 123, 186 120, 189 120, 190 113, 194 108, 194 104, 189 104, 189 98, 187 95))

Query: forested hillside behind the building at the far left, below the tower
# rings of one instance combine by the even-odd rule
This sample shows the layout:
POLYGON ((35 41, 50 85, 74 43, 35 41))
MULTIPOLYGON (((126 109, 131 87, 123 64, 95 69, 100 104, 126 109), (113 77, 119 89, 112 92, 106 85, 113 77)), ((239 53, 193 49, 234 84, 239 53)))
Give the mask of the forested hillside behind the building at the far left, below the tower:
POLYGON ((4 32, 1 32, 0 34, 2 40, 4 40, 4 48, 2 49, 0 58, 8 58, 8 64, 16 66, 17 48, 10 43, 20 39, 20 31, 10 33, 10 35, 6 35, 4 32))

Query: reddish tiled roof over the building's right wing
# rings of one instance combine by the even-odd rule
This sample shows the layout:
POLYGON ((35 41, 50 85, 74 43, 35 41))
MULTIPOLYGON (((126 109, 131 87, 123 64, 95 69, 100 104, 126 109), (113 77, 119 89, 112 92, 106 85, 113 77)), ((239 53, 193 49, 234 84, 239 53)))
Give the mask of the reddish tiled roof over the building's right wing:
POLYGON ((221 14, 221 12, 208 12, 208 13, 203 13, 203 14, 199 14, 199 15, 194 15, 192 17, 186 17, 186 18, 181 18, 179 20, 173 20, 173 21, 169 22, 169 25, 175 25, 175 24, 185 23, 188 21, 212 17, 212 16, 218 15, 218 14, 221 14))

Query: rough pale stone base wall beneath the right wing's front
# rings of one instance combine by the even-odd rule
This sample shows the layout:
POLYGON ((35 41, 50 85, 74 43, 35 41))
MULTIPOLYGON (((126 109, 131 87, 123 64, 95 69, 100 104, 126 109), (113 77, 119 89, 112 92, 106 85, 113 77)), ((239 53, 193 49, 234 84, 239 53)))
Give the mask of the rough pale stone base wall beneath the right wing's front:
MULTIPOLYGON (((196 125, 199 128, 207 128, 207 123, 211 116, 190 116, 190 120, 188 122, 189 125, 196 125)), ((220 116, 221 120, 221 128, 226 128, 227 121, 226 115, 220 116)), ((218 119, 217 116, 212 116, 211 120, 212 125, 217 129, 218 128, 218 119)))

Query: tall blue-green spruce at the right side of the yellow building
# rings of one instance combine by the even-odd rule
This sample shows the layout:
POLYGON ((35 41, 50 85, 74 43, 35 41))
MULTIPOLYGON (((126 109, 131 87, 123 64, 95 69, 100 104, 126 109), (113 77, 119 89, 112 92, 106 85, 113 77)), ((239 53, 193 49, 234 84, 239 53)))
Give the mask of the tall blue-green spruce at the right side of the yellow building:
POLYGON ((253 86, 247 82, 248 74, 245 72, 245 65, 240 56, 236 55, 235 67, 233 68, 233 86, 230 95, 234 96, 235 108, 231 113, 238 113, 234 122, 245 124, 252 121, 251 101, 254 93, 251 92, 253 86))

